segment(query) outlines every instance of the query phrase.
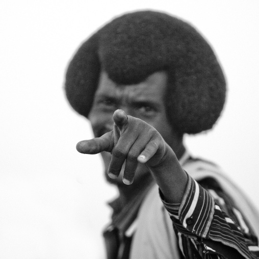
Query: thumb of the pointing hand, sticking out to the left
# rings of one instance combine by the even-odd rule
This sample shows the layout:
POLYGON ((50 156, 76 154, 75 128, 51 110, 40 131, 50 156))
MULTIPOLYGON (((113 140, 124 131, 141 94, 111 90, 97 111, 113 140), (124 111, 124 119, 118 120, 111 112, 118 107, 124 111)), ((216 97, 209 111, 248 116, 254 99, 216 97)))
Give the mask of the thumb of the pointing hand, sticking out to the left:
POLYGON ((82 140, 76 144, 76 150, 83 154, 97 154, 102 151, 111 152, 113 149, 113 132, 108 132, 99 138, 82 140))

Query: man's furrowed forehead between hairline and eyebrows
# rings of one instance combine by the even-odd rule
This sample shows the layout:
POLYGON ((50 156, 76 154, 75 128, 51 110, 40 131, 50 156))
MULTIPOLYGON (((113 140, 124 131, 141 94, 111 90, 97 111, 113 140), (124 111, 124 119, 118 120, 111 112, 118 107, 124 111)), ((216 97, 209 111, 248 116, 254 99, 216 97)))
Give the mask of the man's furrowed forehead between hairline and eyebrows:
POLYGON ((155 72, 141 83, 119 85, 109 79, 105 71, 101 71, 95 96, 105 95, 118 98, 156 98, 163 100, 167 85, 167 73, 155 72))

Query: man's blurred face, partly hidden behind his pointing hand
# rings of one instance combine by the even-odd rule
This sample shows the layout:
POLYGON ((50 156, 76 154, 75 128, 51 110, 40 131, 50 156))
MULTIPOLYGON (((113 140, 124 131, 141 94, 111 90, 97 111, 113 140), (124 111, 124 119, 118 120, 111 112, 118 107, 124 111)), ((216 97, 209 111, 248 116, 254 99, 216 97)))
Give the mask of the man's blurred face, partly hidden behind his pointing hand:
MULTIPOLYGON (((93 106, 89 114, 95 137, 112 131, 113 113, 122 109, 127 115, 134 116, 147 122, 162 135, 164 140, 173 148, 175 133, 166 117, 164 105, 167 85, 167 74, 164 71, 155 72, 147 79, 135 85, 118 85, 109 79, 108 74, 102 71, 99 84, 94 96, 93 106)), ((116 179, 108 176, 107 170, 111 160, 109 152, 101 153, 105 164, 105 173, 108 182, 122 185, 122 173, 116 179)), ((122 168, 122 171, 124 168, 122 168)), ((145 165, 139 164, 136 170, 134 183, 149 174, 145 165)), ((124 184, 123 184, 124 185, 124 184)))

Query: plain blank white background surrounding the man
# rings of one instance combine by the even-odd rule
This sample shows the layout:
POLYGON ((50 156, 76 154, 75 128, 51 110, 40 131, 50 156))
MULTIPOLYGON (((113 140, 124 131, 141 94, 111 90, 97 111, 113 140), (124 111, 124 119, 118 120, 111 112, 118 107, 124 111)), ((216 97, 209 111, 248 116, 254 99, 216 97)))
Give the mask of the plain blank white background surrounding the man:
POLYGON ((189 151, 219 164, 259 207, 257 0, 0 2, 0 257, 104 258, 101 231, 117 195, 92 138, 68 105, 64 73, 76 48, 121 13, 153 9, 181 17, 212 44, 227 102, 213 131, 186 136, 189 151))

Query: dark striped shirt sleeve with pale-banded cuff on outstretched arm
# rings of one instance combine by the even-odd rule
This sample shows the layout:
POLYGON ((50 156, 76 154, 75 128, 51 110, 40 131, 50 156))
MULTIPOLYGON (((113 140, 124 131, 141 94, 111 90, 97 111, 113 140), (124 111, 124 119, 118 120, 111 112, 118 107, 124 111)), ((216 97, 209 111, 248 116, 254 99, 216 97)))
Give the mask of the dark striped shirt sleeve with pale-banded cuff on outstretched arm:
MULTIPOLYGON (((245 258, 259 258, 257 238, 251 234, 242 214, 228 199, 219 196, 217 190, 206 190, 188 175, 188 184, 181 203, 167 203, 161 191, 160 196, 178 237, 181 241, 186 239, 201 257, 204 254, 207 258, 209 254, 217 254, 217 251, 202 242, 203 239, 209 239, 236 249, 245 258)), ((181 248, 182 245, 179 246, 181 248)), ((181 250, 186 255, 183 246, 181 250)), ((218 256, 224 258, 220 253, 218 256)))

